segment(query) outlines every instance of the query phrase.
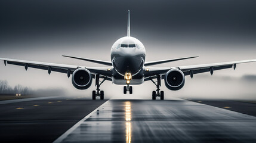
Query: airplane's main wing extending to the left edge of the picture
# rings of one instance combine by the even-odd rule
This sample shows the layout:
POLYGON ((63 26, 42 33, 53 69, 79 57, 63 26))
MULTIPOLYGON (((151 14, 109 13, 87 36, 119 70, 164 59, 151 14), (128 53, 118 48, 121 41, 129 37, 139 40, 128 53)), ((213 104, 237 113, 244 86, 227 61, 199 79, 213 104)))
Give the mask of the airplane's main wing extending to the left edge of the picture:
POLYGON ((101 74, 103 76, 111 77, 111 69, 112 67, 84 67, 84 66, 75 66, 68 64, 54 64, 54 63, 43 63, 38 61, 24 61, 24 60, 16 60, 10 58, 0 58, 0 60, 4 61, 5 66, 7 64, 13 64, 16 66, 23 66, 26 70, 31 67, 35 69, 48 70, 50 74, 51 71, 56 71, 59 73, 66 73, 69 77, 70 74, 73 73, 76 69, 85 68, 91 71, 92 74, 101 74))

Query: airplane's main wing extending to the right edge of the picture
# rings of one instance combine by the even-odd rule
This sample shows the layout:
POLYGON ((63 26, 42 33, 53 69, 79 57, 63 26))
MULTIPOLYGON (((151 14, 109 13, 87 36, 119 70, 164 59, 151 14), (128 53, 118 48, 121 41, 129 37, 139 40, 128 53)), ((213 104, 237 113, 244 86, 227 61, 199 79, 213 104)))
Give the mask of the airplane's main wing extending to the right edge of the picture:
MULTIPOLYGON (((192 66, 180 66, 180 67, 145 67, 146 72, 144 74, 145 79, 150 76, 155 76, 156 74, 165 75, 165 73, 168 70, 171 69, 180 69, 183 71, 184 75, 190 75, 192 74, 198 74, 198 73, 205 73, 210 71, 211 74, 214 70, 222 70, 222 69, 228 69, 232 68, 236 69, 236 64, 240 63, 249 63, 249 62, 255 62, 254 60, 242 60, 242 61, 230 61, 230 62, 224 62, 224 63, 214 63, 214 64, 198 64, 198 65, 192 65, 192 66)), ((192 76, 193 77, 193 76, 192 76)))

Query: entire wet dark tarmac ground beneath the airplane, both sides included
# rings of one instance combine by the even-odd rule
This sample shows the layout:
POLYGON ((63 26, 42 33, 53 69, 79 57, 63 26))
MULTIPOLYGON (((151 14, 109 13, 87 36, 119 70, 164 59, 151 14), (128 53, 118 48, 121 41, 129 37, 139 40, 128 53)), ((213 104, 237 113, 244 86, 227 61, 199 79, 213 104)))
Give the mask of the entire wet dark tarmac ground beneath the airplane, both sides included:
POLYGON ((253 103, 178 98, 5 101, 0 104, 0 138, 1 142, 256 142, 256 117, 249 116, 255 110, 253 103))

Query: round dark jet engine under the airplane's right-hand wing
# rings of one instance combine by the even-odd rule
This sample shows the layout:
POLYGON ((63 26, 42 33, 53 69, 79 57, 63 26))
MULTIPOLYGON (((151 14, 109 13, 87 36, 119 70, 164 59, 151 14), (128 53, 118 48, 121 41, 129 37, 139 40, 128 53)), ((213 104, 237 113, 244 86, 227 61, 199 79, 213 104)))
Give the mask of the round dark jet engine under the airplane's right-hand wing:
POLYGON ((171 69, 165 74, 165 86, 172 91, 183 88, 184 83, 185 76, 181 70, 171 69))

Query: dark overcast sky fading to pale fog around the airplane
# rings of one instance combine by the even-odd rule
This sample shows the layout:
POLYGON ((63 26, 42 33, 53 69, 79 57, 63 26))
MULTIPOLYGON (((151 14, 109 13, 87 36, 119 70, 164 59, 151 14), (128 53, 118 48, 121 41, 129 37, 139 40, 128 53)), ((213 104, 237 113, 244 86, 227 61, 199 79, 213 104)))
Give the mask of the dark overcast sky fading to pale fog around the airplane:
MULTIPOLYGON (((161 67, 256 58, 256 1, 0 1, 0 57, 81 66, 101 66, 61 57, 72 55, 110 61, 110 48, 127 35, 127 10, 131 10, 131 36, 146 47, 146 61, 199 55, 192 60, 161 64, 161 67)), ((256 63, 186 77, 183 89, 166 92, 184 97, 230 97, 240 94, 256 99, 256 63), (224 80, 225 79, 225 80, 224 80), (249 78, 251 79, 251 78, 249 78), (255 78, 254 78, 255 79, 255 78), (243 81, 243 82, 241 82, 243 81), (225 88, 223 88, 225 87, 225 88), (239 87, 239 88, 238 88, 239 87), (207 95, 203 95, 207 92, 207 95), (236 95, 234 95, 236 93, 236 95), (255 96, 254 96, 255 94, 255 96)), ((66 74, 0 63, 0 79, 33 89, 63 88, 70 95, 91 97, 73 88, 66 74)), ((94 85, 94 84, 92 84, 94 85)), ((146 88, 134 86, 134 96, 151 97, 146 88)), ((124 96, 122 86, 103 83, 106 97, 124 96), (112 89, 112 90, 107 90, 112 89), (113 92, 115 91, 115 92, 113 92)))

